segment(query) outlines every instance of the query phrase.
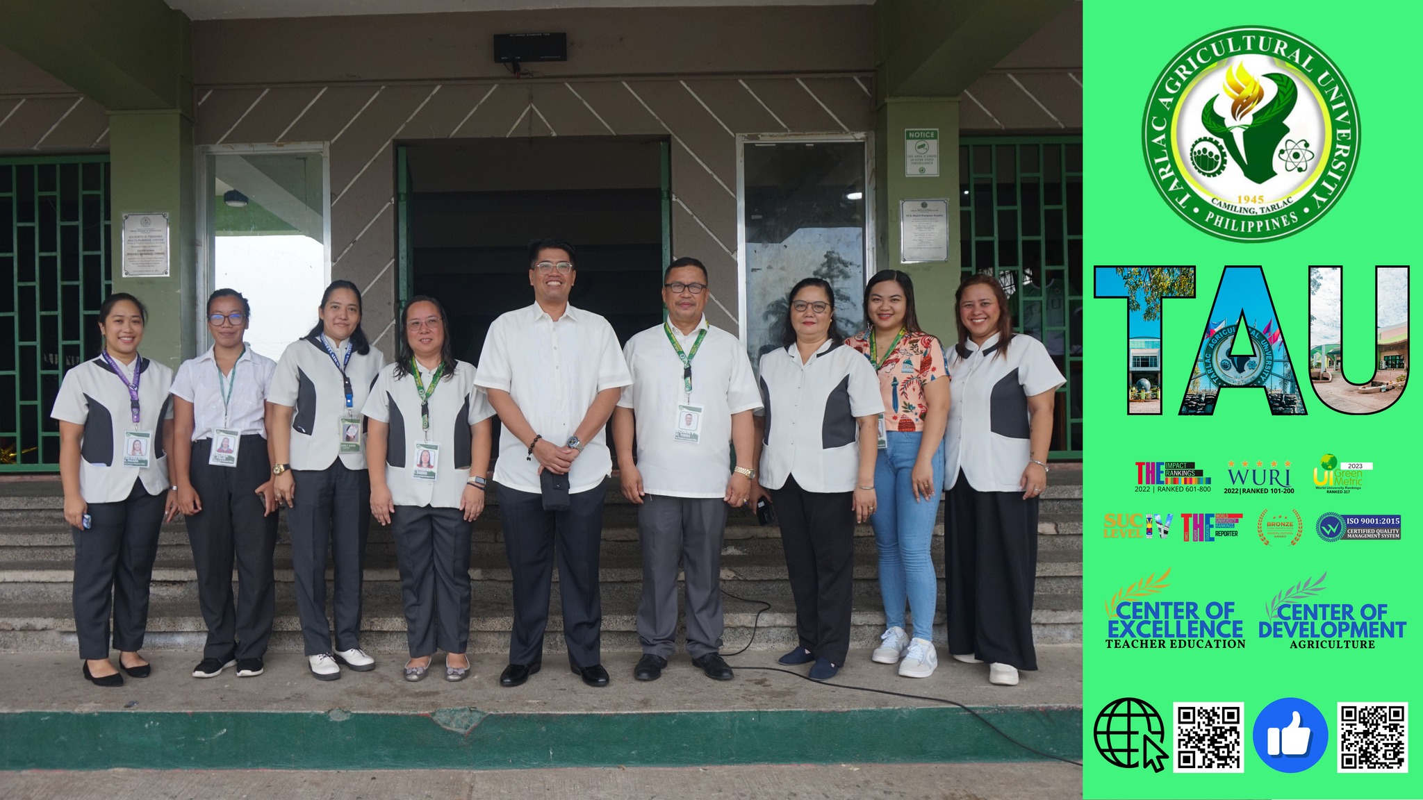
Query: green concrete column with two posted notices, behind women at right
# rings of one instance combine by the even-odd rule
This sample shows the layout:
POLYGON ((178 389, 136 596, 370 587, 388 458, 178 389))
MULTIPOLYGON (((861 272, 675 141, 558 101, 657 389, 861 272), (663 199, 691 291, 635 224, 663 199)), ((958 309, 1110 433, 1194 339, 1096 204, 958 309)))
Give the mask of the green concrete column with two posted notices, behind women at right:
POLYGON ((945 343, 958 340, 953 293, 959 288, 959 98, 889 97, 875 111, 877 266, 899 269, 914 280, 919 325, 945 343), (906 177, 905 128, 939 130, 939 175, 906 177), (942 262, 899 262, 899 201, 949 201, 949 258, 942 262))

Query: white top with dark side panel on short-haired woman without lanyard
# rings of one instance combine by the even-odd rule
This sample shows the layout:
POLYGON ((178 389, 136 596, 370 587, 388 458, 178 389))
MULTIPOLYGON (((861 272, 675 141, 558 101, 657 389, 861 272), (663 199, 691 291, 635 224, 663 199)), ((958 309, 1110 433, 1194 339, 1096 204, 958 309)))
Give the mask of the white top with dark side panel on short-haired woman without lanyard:
MULTIPOLYGON (((885 410, 875 367, 854 347, 827 339, 810 362, 795 344, 761 356, 761 485, 785 478, 805 491, 854 491, 859 477, 859 426, 855 417, 885 410)), ((864 447, 874 447, 874 440, 864 447)))

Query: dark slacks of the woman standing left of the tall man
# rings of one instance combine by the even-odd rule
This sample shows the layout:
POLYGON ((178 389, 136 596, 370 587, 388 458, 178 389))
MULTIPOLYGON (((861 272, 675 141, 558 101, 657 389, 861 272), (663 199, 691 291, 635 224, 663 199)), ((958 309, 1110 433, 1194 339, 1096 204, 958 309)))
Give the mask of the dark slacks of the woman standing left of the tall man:
POLYGON ((400 561, 410 658, 470 643, 470 522, 458 508, 397 505, 390 517, 400 561))

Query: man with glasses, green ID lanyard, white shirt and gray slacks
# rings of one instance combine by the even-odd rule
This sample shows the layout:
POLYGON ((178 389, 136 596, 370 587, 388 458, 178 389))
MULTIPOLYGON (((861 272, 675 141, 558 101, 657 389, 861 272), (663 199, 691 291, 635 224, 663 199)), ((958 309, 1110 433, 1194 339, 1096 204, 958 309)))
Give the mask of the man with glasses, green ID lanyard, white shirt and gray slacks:
POLYGON ((730 680, 721 646, 721 540, 727 507, 746 504, 756 471, 751 411, 761 407, 746 347, 707 325, 700 260, 667 268, 667 320, 628 340, 632 386, 613 411, 623 495, 639 505, 642 602, 638 680, 656 680, 676 646, 677 564, 686 574, 687 653, 707 678, 730 680), (633 458, 633 433, 638 456, 633 458), (736 444, 736 467, 730 444, 736 444))

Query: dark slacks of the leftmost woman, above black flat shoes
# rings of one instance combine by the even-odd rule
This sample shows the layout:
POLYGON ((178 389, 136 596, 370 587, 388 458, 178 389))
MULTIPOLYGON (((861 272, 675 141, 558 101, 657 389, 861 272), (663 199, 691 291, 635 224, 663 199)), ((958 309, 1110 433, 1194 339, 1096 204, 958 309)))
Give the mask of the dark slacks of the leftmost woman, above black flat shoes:
POLYGON ((118 502, 91 502, 90 528, 74 528, 74 632, 80 658, 108 658, 110 611, 114 649, 144 646, 148 629, 148 582, 158 557, 164 494, 148 494, 144 483, 118 502))

